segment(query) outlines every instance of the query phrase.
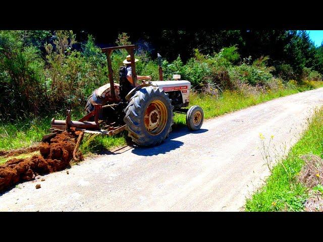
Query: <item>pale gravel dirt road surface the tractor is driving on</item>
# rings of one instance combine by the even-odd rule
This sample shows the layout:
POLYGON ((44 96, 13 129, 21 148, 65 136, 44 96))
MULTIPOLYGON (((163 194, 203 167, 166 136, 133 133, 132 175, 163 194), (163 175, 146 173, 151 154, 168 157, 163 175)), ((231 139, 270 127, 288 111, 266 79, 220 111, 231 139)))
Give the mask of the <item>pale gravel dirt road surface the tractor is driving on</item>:
POLYGON ((282 155, 322 104, 320 88, 180 129, 158 147, 95 155, 4 193, 0 211, 240 211, 270 173, 259 133, 282 155))

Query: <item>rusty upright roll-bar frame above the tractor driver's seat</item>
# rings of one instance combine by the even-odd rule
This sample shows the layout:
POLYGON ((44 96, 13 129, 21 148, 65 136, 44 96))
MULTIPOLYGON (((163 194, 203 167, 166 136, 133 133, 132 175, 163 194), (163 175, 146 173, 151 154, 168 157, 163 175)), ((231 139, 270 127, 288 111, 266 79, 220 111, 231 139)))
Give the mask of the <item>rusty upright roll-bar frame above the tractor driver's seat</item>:
POLYGON ((134 49, 136 48, 136 45, 122 45, 122 46, 116 46, 116 47, 107 47, 102 48, 102 53, 105 53, 106 60, 107 60, 107 68, 109 71, 109 81, 110 81, 110 91, 113 101, 117 101, 116 99, 116 93, 115 93, 115 85, 113 81, 113 70, 112 70, 112 64, 111 64, 111 54, 112 51, 115 49, 126 49, 128 53, 130 54, 131 59, 131 70, 132 70, 132 80, 135 85, 137 86, 137 73, 136 73, 136 65, 135 65, 135 55, 134 55, 134 49))

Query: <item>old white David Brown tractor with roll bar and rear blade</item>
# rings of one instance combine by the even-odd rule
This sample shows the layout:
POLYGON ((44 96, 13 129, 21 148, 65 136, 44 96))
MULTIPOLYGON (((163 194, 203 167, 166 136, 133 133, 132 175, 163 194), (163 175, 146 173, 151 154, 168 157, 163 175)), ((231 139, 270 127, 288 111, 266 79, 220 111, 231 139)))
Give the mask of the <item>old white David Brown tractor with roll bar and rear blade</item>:
POLYGON ((110 83, 93 91, 87 99, 87 114, 78 121, 71 120, 68 110, 66 120, 51 120, 51 134, 75 128, 91 134, 113 136, 124 130, 139 146, 155 146, 163 142, 172 132, 174 112, 186 113, 186 125, 191 131, 199 130, 203 123, 203 110, 200 106, 189 105, 191 83, 174 75, 173 81, 163 81, 161 56, 157 54, 159 81, 137 83, 134 58, 135 45, 102 48, 107 58, 110 83), (111 54, 116 49, 126 49, 130 54, 134 88, 127 90, 125 83, 114 83, 111 54))

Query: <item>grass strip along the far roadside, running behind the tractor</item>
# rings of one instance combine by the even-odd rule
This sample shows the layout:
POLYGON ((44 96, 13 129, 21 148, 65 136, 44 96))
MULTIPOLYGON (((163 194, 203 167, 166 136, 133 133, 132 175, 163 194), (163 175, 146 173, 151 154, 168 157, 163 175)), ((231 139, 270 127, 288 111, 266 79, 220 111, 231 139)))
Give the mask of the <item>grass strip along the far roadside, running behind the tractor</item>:
MULTIPOLYGON (((282 89, 276 92, 249 96, 234 91, 225 91, 219 98, 192 93, 190 104, 200 105, 204 110, 205 118, 210 118, 277 97, 291 95, 321 86, 323 86, 323 82, 307 82, 297 88, 282 89)), ((50 128, 50 120, 53 116, 57 119, 65 119, 64 113, 56 113, 45 117, 22 117, 20 120, 15 120, 15 122, 0 125, 0 150, 28 147, 39 142, 42 136, 48 133, 47 130, 50 128)), ((72 119, 78 119, 81 116, 82 113, 72 111, 72 119)), ((185 125, 185 115, 176 113, 174 122, 175 129, 176 126, 185 125)), ((87 137, 88 135, 86 135, 83 144, 80 146, 81 151, 84 153, 107 150, 126 144, 126 132, 114 137, 87 137)))

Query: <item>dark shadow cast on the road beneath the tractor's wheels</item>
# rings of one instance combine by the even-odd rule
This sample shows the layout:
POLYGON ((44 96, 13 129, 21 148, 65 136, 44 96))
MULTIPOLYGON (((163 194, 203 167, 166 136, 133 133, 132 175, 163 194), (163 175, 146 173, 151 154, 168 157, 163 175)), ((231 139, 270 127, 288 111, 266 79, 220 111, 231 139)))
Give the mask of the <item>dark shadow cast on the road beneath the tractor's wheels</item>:
MULTIPOLYGON (((178 137, 182 137, 188 134, 201 134, 208 130, 200 129, 197 131, 189 131, 187 128, 180 128, 175 129, 170 134, 170 136, 160 145, 153 146, 153 147, 139 147, 135 144, 128 144, 129 146, 133 147, 134 149, 131 150, 132 153, 141 156, 152 156, 152 155, 159 155, 159 154, 166 154, 172 150, 180 148, 184 143, 182 141, 174 140, 178 137)), ((193 137, 192 137, 193 138, 193 137)))

